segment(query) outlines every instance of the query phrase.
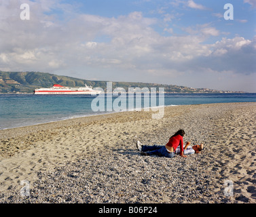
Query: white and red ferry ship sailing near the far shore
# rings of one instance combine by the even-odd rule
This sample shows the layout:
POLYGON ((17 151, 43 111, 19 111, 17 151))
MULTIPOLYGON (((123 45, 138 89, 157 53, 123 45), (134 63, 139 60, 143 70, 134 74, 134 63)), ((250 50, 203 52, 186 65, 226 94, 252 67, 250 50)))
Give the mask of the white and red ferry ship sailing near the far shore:
POLYGON ((34 90, 34 94, 100 94, 100 91, 92 90, 92 87, 64 87, 54 84, 50 88, 39 88, 34 90))

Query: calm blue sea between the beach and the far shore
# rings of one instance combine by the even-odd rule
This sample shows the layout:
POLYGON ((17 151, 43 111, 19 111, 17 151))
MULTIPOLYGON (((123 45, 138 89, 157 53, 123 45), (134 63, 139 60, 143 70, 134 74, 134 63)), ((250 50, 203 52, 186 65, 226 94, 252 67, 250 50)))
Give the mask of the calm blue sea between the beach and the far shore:
MULTIPOLYGON (((0 130, 109 113, 92 111, 96 96, 0 94, 0 130)), ((112 100, 116 98, 113 97, 112 100)), ((141 107, 143 107, 143 97, 141 107)), ((101 102, 107 102, 103 99, 101 102)), ((128 106, 128 97, 126 98, 128 106)), ((164 104, 209 104, 222 102, 256 102, 256 94, 165 94, 164 104)), ((134 97, 134 103, 136 103, 134 97)), ((158 101, 157 101, 158 105, 158 101)), ((134 108, 138 104, 134 104, 134 108)))

